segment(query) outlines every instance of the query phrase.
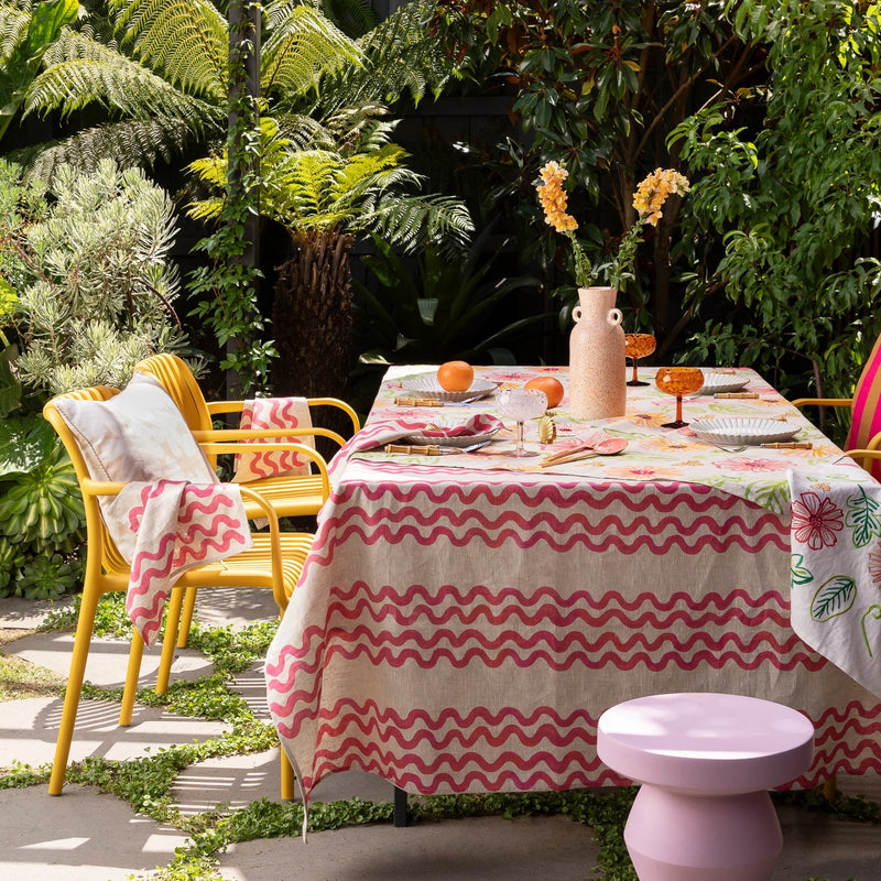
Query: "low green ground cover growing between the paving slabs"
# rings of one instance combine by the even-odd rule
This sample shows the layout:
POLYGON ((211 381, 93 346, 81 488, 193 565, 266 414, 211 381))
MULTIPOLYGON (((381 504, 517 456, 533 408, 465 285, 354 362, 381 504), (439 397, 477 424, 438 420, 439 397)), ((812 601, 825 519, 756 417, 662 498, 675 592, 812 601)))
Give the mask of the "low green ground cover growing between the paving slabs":
MULTIPOLYGON (((51 613, 43 628, 70 630, 76 616, 74 603, 67 610, 51 613)), ((180 715, 222 720, 229 726, 227 733, 200 743, 163 749, 131 761, 111 762, 94 757, 74 763, 68 771, 68 781, 72 783, 112 793, 131 804, 134 811, 159 823, 174 825, 188 836, 187 844, 178 848, 175 858, 151 875, 155 881, 220 881, 222 874, 217 869, 217 857, 229 845, 300 835, 303 813, 298 803, 259 800, 237 811, 220 804, 202 814, 183 816, 170 794, 175 779, 188 765, 209 758, 264 751, 278 742, 272 726, 257 719, 247 703, 231 688, 235 674, 265 654, 275 627, 272 621, 239 629, 209 628, 196 623, 191 634, 191 645, 211 659, 214 674, 195 682, 175 682, 163 697, 146 689, 138 695, 141 703, 163 706, 180 715)), ((109 595, 101 600, 96 632, 126 639, 130 637, 121 594, 109 595)), ((3 659, 0 655, 0 678, 2 670, 3 659)), ((121 689, 89 686, 84 690, 84 697, 118 700, 121 689)), ((48 765, 37 769, 17 765, 0 772, 0 788, 43 785, 48 780, 48 765)), ((599 864, 592 871, 586 867, 586 881, 637 881, 622 837, 634 795, 633 787, 624 787, 563 793, 432 796, 410 800, 409 812, 413 823, 488 815, 509 819, 539 815, 565 816, 589 826, 599 846, 599 864)), ((848 797, 839 793, 835 802, 829 803, 816 790, 775 793, 774 800, 803 811, 833 813, 842 820, 881 824, 881 805, 861 797, 848 797)), ((392 815, 391 802, 351 798, 316 803, 309 812, 309 830, 329 831, 350 825, 391 823, 392 815)), ((806 881, 822 880, 812 878, 806 881)))

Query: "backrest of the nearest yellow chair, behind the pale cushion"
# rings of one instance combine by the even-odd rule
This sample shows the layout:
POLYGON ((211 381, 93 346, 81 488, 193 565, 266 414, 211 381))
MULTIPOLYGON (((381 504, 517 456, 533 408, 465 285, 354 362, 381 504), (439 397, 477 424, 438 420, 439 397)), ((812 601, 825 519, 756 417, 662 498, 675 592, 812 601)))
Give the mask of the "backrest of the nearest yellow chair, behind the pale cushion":
MULTIPOLYGON (((64 444, 64 448, 67 450, 67 455, 70 457, 80 488, 83 487, 83 481, 89 477, 88 467, 76 438, 58 412, 55 402, 64 399, 73 401, 109 401, 117 394, 119 394, 119 389, 112 389, 109 385, 96 385, 53 398, 43 407, 43 415, 57 433, 64 444)), ((107 530, 97 497, 84 492, 83 504, 86 509, 86 546, 88 554, 86 565, 89 568, 94 567, 93 575, 95 577, 98 577, 104 570, 108 578, 116 574, 128 579, 131 567, 122 557, 122 554, 119 553, 116 542, 107 530)))

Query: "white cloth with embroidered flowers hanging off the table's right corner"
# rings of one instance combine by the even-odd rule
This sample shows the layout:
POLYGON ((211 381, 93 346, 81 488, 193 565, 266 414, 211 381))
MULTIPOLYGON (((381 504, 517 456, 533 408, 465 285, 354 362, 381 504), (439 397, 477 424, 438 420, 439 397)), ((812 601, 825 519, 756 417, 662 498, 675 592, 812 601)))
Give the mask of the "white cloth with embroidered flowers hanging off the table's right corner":
POLYGON ((881 485, 788 472, 792 627, 881 696, 881 485))

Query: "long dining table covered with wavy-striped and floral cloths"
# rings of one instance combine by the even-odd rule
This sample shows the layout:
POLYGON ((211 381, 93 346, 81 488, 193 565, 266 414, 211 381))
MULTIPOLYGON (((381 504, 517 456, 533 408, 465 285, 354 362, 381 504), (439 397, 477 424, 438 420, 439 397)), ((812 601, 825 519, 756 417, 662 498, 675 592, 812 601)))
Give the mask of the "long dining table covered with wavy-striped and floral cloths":
POLYGON ((768 381, 705 368, 688 424, 668 428, 675 400, 652 367, 622 415, 589 421, 568 413, 566 367, 476 367, 466 401, 434 389, 436 369, 390 367, 331 461, 268 652, 304 802, 350 769, 422 795, 623 785, 597 757, 600 715, 683 692, 805 714, 814 761, 792 786, 881 771, 881 525, 855 563, 842 536, 859 512, 834 499, 881 509, 881 486, 768 381), (539 377, 564 396, 526 422, 531 455, 515 457, 497 395, 539 377), (719 443, 708 420, 761 431, 719 443), (627 443, 564 457, 600 435, 627 443), (470 439, 488 443, 464 452, 470 439), (850 594, 833 584, 846 564, 866 570, 850 594))

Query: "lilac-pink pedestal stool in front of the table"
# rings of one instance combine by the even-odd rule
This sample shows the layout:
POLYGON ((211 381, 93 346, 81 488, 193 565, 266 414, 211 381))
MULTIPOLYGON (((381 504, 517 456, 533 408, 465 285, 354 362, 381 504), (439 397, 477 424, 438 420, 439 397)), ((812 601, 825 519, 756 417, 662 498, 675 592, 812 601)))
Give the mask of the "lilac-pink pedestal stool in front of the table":
POLYGON ((769 881, 783 836, 768 790, 809 768, 814 727, 755 697, 653 695, 600 716, 597 753, 642 784, 624 828, 640 881, 769 881))

